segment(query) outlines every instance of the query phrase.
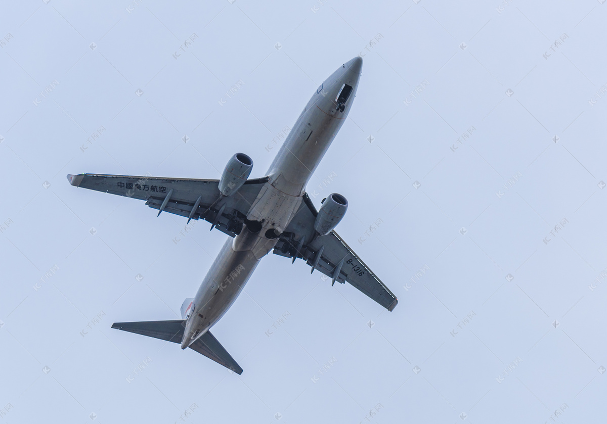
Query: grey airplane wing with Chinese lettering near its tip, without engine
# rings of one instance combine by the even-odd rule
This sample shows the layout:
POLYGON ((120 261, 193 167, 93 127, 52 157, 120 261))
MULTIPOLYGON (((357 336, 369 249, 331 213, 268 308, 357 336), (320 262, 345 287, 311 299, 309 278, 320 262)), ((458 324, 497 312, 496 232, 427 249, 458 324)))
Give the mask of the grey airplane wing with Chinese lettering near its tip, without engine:
POLYGON ((92 173, 68 174, 67 180, 72 186, 145 200, 149 207, 181 215, 188 221, 202 218, 234 237, 268 178, 247 180, 236 193, 223 198, 219 180, 92 173))

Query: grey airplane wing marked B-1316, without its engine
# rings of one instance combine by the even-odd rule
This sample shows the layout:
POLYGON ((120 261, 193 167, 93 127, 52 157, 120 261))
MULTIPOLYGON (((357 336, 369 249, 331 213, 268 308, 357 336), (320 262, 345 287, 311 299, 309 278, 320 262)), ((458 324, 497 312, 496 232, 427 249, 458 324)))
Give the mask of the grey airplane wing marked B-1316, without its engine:
POLYGON ((280 235, 280 240, 274 247, 274 254, 293 260, 296 257, 303 258, 313 267, 312 271, 318 269, 339 283, 347 281, 388 311, 396 308, 396 296, 335 231, 314 237, 314 220, 317 214, 310 197, 304 193, 304 201, 285 232, 280 235), (336 273, 337 270, 339 273, 336 273))

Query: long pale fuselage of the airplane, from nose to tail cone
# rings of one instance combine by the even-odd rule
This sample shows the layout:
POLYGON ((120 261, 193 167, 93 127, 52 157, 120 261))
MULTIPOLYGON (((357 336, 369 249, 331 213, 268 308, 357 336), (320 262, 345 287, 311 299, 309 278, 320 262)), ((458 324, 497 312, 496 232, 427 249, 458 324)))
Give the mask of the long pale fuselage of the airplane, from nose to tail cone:
POLYGON ((261 223, 262 229, 251 232, 244 225, 240 234, 223 244, 189 309, 182 349, 225 314, 261 258, 274 248, 279 239, 267 238, 266 232, 274 229, 280 234, 287 228, 303 200, 308 180, 348 115, 361 69, 359 57, 339 67, 316 90, 297 118, 268 169, 268 183, 260 190, 247 215, 249 221, 261 223), (351 87, 351 92, 345 104, 338 104, 336 98, 344 84, 351 87))

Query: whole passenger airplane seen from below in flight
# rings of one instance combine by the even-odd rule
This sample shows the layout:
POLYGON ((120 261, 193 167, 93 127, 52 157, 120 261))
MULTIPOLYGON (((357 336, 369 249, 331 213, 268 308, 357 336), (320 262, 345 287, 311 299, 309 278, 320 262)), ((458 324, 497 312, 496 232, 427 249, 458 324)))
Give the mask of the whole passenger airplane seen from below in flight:
MULTIPOLYGON (((392 311, 398 300, 333 229, 348 201, 331 193, 316 210, 305 192, 320 160, 350 112, 362 58, 340 66, 312 96, 263 178, 249 179, 253 160, 236 153, 219 180, 67 175, 72 186, 145 200, 146 205, 190 220, 203 219, 228 240, 194 298, 181 305, 181 320, 114 323, 112 328, 179 343, 237 374, 242 368, 209 329, 228 311, 259 261, 270 251, 302 258, 335 281, 347 281, 392 311)), ((328 280, 328 278, 327 278, 328 280)))

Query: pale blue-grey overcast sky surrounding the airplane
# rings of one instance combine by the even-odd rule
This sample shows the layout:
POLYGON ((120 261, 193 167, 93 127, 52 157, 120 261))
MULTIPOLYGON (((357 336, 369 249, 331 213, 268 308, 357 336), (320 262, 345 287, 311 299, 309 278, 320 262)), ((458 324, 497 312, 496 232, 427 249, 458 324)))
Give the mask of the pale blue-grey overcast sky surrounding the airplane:
POLYGON ((200 3, 2 5, 0 422, 603 416, 603 0, 200 3), (308 192, 396 309, 270 254, 212 329, 240 376, 111 329, 177 319, 226 235, 66 174, 263 177, 357 55, 308 192))

